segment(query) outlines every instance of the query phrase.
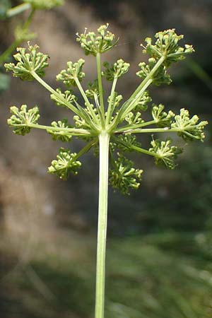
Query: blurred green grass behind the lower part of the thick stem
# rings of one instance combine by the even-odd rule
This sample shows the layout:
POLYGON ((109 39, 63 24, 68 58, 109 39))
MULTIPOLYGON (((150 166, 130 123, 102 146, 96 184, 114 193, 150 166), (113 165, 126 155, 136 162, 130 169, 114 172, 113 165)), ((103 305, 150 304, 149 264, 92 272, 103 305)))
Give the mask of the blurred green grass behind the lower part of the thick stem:
MULTIPOLYGON (((95 239, 84 240, 75 258, 69 242, 62 258, 35 249, 7 278, 2 317, 93 317, 95 239)), ((211 318, 211 240, 177 232, 108 240, 105 318, 211 318)))

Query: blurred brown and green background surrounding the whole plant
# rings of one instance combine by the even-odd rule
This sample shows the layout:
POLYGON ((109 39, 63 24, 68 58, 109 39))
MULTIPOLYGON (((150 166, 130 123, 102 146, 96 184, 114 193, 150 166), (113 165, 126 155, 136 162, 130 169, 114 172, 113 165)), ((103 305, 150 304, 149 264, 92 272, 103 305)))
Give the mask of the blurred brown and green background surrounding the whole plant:
MULTIPOLYGON (((0 52, 27 16, 0 22, 0 52)), ((140 189, 131 196, 110 189, 105 318, 212 317, 211 16, 210 0, 66 0, 37 11, 30 25, 37 34, 32 43, 51 58, 45 79, 54 88, 66 61, 83 57, 75 34, 85 27, 96 30, 108 22, 119 36, 119 45, 103 59, 130 62, 119 83, 125 96, 139 83, 135 73, 146 60, 140 47, 146 36, 176 28, 196 49, 172 68, 173 83, 151 88, 151 96, 167 110, 185 107, 207 119, 206 141, 186 146, 175 171, 135 155, 136 167, 144 170, 140 189)), ((86 80, 95 79, 93 57, 86 57, 85 71, 86 80)), ((92 318, 98 159, 88 153, 78 176, 67 182, 48 175, 64 145, 44 131, 14 135, 6 124, 9 106, 38 105, 42 124, 72 115, 56 107, 38 83, 1 76, 0 316, 92 318)), ((142 139, 146 148, 150 139, 142 139)), ((80 148, 80 141, 72 142, 73 151, 80 148)))

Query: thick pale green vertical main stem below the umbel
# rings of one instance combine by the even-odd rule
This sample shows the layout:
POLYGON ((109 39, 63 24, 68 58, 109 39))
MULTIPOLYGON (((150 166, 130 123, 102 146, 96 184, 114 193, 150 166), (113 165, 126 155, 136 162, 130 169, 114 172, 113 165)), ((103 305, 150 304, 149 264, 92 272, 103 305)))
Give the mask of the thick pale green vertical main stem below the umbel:
POLYGON ((100 176, 98 208, 98 243, 96 264, 95 318, 104 318, 105 309, 105 252, 107 236, 108 155, 110 135, 102 131, 100 142, 100 176))

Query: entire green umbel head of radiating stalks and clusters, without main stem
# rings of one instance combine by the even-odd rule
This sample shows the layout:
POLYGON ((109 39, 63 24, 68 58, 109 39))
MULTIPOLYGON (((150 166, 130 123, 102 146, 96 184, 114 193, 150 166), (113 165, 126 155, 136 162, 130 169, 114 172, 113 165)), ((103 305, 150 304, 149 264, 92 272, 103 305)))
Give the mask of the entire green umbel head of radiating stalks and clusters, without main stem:
POLYGON ((78 158, 94 147, 95 155, 100 153, 98 140, 103 134, 107 134, 110 139, 110 184, 114 189, 119 189, 123 194, 129 194, 130 189, 137 189, 141 182, 142 170, 134 167, 134 163, 127 159, 125 153, 135 151, 150 155, 156 165, 167 169, 174 169, 177 165, 176 159, 182 148, 172 146, 171 139, 160 141, 154 138, 151 141, 149 149, 142 148, 137 140, 138 134, 164 134, 168 132, 181 136, 185 141, 204 140, 204 127, 207 122, 199 122, 199 117, 189 116, 188 110, 182 108, 179 114, 174 114, 171 110, 165 111, 162 104, 151 107, 150 121, 143 112, 148 110, 148 105, 152 101, 148 93, 148 86, 151 83, 160 85, 169 84, 170 76, 167 73, 167 67, 170 64, 184 59, 184 57, 193 52, 192 46, 186 45, 179 47, 179 40, 182 35, 177 35, 175 30, 165 30, 155 35, 155 45, 148 37, 144 52, 150 54, 148 64, 141 62, 141 70, 137 72, 143 81, 134 90, 134 93, 123 102, 123 96, 117 91, 116 85, 119 78, 129 70, 129 64, 119 59, 114 64, 103 63, 105 71, 101 70, 100 53, 111 49, 116 40, 114 35, 107 30, 108 25, 102 25, 98 28, 98 34, 94 32, 78 35, 78 41, 86 54, 96 56, 98 65, 98 78, 93 83, 88 83, 84 90, 81 81, 85 77, 83 65, 85 61, 78 59, 76 63, 69 61, 67 69, 62 70, 57 75, 57 81, 62 81, 66 86, 78 88, 83 102, 78 102, 76 95, 72 90, 62 92, 61 88, 54 90, 45 81, 42 76, 47 67, 48 55, 38 51, 39 47, 29 46, 28 52, 25 48, 18 48, 18 54, 15 55, 16 64, 6 64, 7 71, 12 71, 13 76, 20 77, 22 80, 31 81, 34 78, 42 84, 51 93, 50 97, 56 105, 66 107, 73 111, 73 122, 71 126, 67 119, 52 122, 51 126, 42 126, 37 124, 39 118, 38 108, 34 107, 27 110, 26 105, 20 107, 11 107, 11 119, 8 124, 13 126, 16 134, 25 135, 32 128, 45 129, 52 135, 54 140, 71 142, 72 136, 82 139, 86 146, 79 153, 71 153, 68 149, 61 148, 57 160, 52 161, 49 172, 54 173, 66 179, 70 172, 76 174, 81 163, 78 158), (112 81, 111 92, 107 97, 102 88, 102 76, 107 81, 112 81), (105 101, 108 105, 105 107, 105 101), (155 125, 155 127, 154 127, 155 125))

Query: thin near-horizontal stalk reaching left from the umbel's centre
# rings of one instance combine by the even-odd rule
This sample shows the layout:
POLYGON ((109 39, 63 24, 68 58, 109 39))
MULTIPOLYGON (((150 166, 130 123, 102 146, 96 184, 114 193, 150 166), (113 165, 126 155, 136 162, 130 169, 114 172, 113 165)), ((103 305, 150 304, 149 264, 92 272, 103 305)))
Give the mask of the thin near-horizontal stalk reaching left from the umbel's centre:
POLYGON ((65 128, 65 127, 54 127, 54 126, 45 126, 40 124, 17 124, 11 125, 12 127, 25 127, 28 126, 30 128, 44 129, 44 130, 53 130, 53 131, 65 131, 72 136, 90 136, 90 131, 86 129, 78 129, 78 128, 65 128))

